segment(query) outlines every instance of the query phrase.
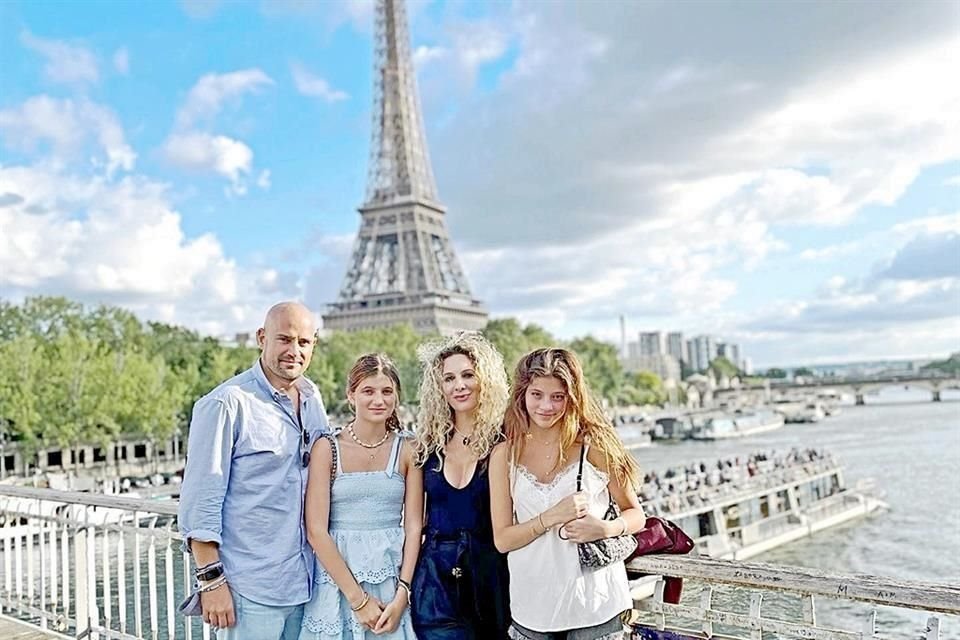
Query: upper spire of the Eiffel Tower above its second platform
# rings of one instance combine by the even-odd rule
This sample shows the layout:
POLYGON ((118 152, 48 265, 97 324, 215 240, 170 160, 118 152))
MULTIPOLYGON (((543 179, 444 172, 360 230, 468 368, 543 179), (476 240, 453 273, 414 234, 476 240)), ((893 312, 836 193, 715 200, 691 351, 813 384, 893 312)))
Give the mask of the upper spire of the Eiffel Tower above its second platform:
POLYGON ((373 136, 364 208, 403 201, 434 203, 417 78, 403 0, 379 0, 374 49, 373 136))

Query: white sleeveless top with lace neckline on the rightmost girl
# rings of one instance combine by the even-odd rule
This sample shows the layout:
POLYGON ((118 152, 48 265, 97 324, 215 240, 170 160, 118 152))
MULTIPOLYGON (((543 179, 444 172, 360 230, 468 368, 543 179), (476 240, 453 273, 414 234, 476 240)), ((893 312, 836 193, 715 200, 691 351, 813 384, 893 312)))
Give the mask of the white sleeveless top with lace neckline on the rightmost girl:
MULTIPOLYGON (((539 482, 522 465, 511 465, 517 522, 536 518, 576 491, 579 455, 574 460, 550 484, 539 482)), ((582 486, 590 497, 590 513, 598 518, 603 518, 609 505, 608 481, 606 473, 584 460, 582 486)), ((581 568, 577 543, 561 540, 557 529, 553 527, 507 554, 513 619, 528 629, 546 633, 601 624, 633 606, 623 563, 581 568)))

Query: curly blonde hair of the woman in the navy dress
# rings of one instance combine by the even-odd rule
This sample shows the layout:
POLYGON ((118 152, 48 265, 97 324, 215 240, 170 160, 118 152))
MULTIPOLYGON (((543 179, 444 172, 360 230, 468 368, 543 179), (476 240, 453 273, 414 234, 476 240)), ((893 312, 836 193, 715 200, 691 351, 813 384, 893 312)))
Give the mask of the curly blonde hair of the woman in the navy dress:
POLYGON ((422 367, 420 410, 414 449, 417 464, 424 464, 436 453, 443 467, 447 442, 453 435, 454 412, 443 397, 443 363, 453 355, 464 355, 473 363, 480 393, 474 413, 476 426, 469 447, 479 460, 490 455, 503 439, 503 411, 507 406, 507 372, 503 356, 476 331, 461 331, 449 338, 427 343, 417 350, 422 367))

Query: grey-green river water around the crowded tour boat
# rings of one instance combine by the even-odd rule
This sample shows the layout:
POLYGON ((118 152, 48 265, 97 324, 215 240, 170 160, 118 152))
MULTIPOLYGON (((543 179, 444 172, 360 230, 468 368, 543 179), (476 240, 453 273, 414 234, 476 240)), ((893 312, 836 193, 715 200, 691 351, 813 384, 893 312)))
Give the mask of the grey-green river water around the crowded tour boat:
MULTIPOLYGON (((837 573, 960 584, 960 393, 888 390, 867 396, 866 406, 844 406, 840 415, 813 425, 739 440, 688 442, 636 452, 644 469, 744 456, 754 451, 815 447, 844 467, 853 486, 872 478, 890 505, 880 512, 792 542, 750 561, 816 567, 837 573)), ((741 603, 743 604, 743 603, 741 603)), ((867 606, 819 599, 818 622, 855 624, 867 606)), ((926 615, 881 608, 877 630, 918 638, 926 615)), ((960 639, 960 619, 941 616, 941 637, 960 639)))

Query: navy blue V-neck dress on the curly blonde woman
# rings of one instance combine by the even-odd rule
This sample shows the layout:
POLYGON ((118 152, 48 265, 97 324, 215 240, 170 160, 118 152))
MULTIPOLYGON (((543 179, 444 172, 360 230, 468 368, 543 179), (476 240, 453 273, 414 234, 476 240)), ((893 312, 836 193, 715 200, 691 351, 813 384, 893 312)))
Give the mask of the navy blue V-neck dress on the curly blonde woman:
POLYGON ((507 557, 493 546, 487 461, 463 489, 450 486, 436 454, 423 466, 427 521, 413 576, 419 640, 501 640, 510 626, 507 557))

